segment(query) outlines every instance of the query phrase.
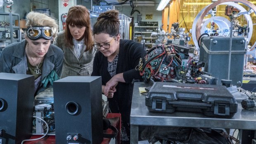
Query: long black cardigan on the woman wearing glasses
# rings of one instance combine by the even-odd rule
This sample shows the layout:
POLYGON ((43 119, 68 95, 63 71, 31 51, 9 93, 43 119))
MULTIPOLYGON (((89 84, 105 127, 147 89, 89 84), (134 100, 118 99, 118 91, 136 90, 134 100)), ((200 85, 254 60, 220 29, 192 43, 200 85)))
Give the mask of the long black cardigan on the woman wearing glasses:
MULTIPOLYGON (((120 40, 119 57, 116 66, 116 74, 123 73, 123 78, 126 83, 119 82, 116 86, 116 92, 113 98, 109 98, 109 108, 112 113, 121 113, 122 120, 129 123, 130 108, 133 96, 133 81, 135 79, 142 79, 140 71, 136 70, 142 56, 143 45, 133 40, 120 40)), ((92 76, 102 76, 102 85, 111 79, 107 71, 108 62, 107 57, 98 51, 93 62, 92 76)))

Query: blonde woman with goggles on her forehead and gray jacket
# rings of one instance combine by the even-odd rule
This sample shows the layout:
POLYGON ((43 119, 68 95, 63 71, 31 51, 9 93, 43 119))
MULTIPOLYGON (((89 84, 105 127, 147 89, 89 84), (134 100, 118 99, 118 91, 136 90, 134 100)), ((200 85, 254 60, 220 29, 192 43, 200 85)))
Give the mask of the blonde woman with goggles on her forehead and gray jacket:
POLYGON ((0 72, 35 76, 36 94, 59 78, 63 52, 51 44, 58 31, 55 19, 37 12, 29 12, 26 19, 25 40, 4 48, 0 55, 0 72))

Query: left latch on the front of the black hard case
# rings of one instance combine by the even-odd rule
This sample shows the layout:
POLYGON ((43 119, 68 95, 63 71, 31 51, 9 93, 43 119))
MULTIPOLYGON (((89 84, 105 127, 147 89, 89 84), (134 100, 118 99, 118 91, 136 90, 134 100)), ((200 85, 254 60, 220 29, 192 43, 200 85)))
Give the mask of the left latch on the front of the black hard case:
POLYGON ((152 97, 152 109, 156 111, 165 111, 166 97, 152 97))

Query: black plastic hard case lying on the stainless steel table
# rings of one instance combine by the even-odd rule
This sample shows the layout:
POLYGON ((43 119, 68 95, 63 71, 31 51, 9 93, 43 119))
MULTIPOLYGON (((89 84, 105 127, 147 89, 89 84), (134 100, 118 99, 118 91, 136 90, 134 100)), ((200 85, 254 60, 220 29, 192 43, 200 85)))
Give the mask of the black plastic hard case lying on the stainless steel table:
POLYGON ((155 82, 146 96, 149 111, 199 112, 206 116, 232 118, 237 102, 223 85, 155 82))

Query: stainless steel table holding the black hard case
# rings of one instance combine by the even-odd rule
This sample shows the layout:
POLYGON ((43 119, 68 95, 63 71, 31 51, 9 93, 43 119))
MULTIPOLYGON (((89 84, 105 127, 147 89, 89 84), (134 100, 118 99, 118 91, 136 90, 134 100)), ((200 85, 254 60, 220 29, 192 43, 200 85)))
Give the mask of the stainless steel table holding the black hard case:
POLYGON ((139 125, 179 126, 179 127, 214 127, 232 128, 241 130, 256 130, 256 108, 245 110, 238 102, 238 110, 233 118, 213 118, 202 113, 174 112, 154 113, 149 112, 145 106, 145 95, 140 94, 139 87, 148 87, 148 83, 134 83, 133 102, 130 114, 131 144, 138 143, 139 125))

